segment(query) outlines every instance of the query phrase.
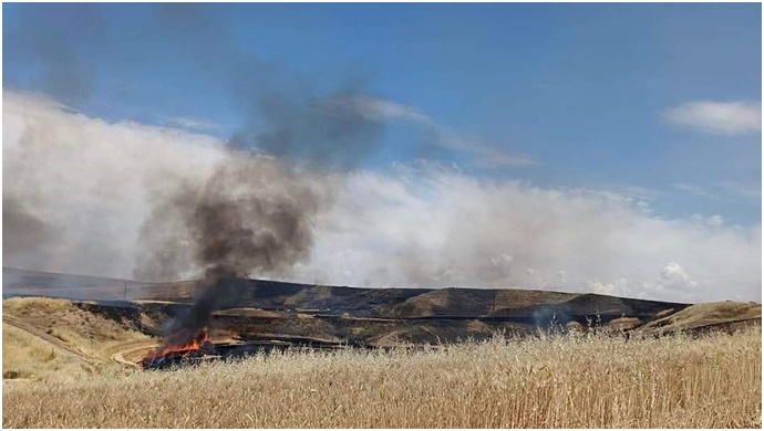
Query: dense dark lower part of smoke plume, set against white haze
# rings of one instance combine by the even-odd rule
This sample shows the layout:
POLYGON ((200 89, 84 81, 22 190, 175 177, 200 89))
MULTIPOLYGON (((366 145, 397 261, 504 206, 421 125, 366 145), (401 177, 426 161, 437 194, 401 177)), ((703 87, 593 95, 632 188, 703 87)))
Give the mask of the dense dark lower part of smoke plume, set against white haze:
MULTIPOLYGON (((167 277, 176 254, 205 281, 192 308, 167 329, 168 345, 185 344, 209 324, 211 314, 245 292, 237 280, 278 275, 308 260, 319 195, 304 177, 270 158, 236 153, 202 182, 187 181, 161 200, 142 228, 147 254, 136 276, 167 277), (155 235, 171 230, 168 235, 155 235), (148 264, 151 263, 151 264, 148 264)), ((180 274, 174 274, 180 276, 180 274)))

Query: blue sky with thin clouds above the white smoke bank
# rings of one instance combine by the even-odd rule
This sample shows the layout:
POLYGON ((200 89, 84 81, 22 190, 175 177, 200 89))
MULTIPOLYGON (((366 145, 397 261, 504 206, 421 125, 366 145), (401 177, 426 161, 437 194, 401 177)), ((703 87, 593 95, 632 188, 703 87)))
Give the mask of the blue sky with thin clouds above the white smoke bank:
POLYGON ((2 10, 3 87, 90 116, 227 138, 267 127, 262 92, 351 90, 382 130, 363 168, 432 158, 761 221, 761 4, 2 10))

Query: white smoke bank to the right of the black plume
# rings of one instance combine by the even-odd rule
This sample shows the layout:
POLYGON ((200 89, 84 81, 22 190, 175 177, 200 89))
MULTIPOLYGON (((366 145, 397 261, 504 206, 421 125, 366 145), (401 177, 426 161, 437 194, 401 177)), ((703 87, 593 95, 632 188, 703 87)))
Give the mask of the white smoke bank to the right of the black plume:
POLYGON ((304 274, 334 283, 761 298, 760 225, 663 220, 613 193, 401 168, 353 174, 332 211, 304 274))

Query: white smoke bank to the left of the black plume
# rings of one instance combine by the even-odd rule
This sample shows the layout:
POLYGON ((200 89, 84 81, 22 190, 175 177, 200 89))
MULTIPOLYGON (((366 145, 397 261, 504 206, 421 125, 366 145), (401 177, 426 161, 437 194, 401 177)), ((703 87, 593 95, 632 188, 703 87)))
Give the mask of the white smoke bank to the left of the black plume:
POLYGON ((204 135, 109 124, 8 90, 2 134, 3 264, 35 270, 128 276, 149 196, 173 178, 209 175, 224 157, 204 135), (13 248, 9 236, 27 232, 7 223, 9 203, 44 220, 55 238, 13 248))

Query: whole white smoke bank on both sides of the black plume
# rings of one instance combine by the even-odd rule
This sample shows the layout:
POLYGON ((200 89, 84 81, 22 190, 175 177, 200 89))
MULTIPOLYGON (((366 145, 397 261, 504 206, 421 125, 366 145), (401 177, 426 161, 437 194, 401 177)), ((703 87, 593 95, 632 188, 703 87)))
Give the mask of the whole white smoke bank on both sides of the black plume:
MULTIPOLYGON (((132 277, 151 254, 138 236, 154 199, 234 157, 209 136, 106 123, 9 90, 3 126, 3 264, 35 270, 132 277)), ((312 180, 332 204, 316 216, 310 259, 282 280, 761 302, 761 224, 667 220, 618 193, 427 162, 312 180)))

